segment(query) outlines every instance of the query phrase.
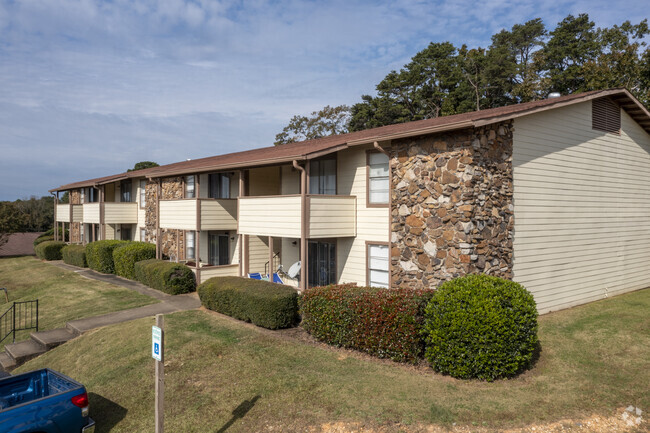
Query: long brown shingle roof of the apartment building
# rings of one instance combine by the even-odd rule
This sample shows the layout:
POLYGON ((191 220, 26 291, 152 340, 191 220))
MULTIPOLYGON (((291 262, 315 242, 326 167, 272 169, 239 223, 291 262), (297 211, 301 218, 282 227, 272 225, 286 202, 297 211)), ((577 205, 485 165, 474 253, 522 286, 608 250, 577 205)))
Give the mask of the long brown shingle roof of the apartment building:
MULTIPOLYGON (((623 109, 625 109, 634 120, 639 122, 639 124, 650 133, 650 113, 636 98, 634 98, 634 96, 632 96, 630 92, 626 89, 594 90, 561 96, 558 98, 491 108, 488 110, 472 111, 452 116, 443 116, 434 119, 382 126, 348 134, 333 135, 298 143, 289 143, 282 146, 264 147, 243 152, 182 161, 131 173, 137 173, 138 176, 144 175, 153 178, 288 163, 292 160, 311 159, 350 146, 372 143, 374 141, 379 142, 435 132, 450 131, 454 129, 478 127, 489 123, 526 116, 539 111, 559 108, 565 105, 601 97, 609 97, 619 103, 619 105, 621 105, 621 107, 623 107, 623 109)), ((128 173, 115 175, 113 177, 108 176, 106 178, 100 178, 100 180, 94 179, 91 181, 95 181, 98 184, 108 183, 120 179, 120 176, 123 175, 128 175, 128 173)), ((85 183, 91 181, 85 181, 85 183)), ((68 184, 56 188, 53 191, 63 191, 73 187, 88 186, 82 184, 84 184, 84 182, 68 184)))

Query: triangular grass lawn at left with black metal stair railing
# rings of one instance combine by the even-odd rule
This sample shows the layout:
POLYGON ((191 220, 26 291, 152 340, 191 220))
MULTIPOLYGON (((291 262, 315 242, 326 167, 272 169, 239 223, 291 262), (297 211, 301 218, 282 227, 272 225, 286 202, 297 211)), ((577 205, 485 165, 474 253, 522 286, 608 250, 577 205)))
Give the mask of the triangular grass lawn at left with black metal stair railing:
MULTIPOLYGON (((158 302, 123 287, 84 278, 34 257, 0 259, 0 287, 6 287, 9 292, 9 303, 5 303, 4 292, 0 292, 0 314, 14 301, 38 299, 41 331, 63 327, 69 320, 158 302)), ((30 332, 33 331, 17 333, 16 341, 29 338, 30 332)), ((0 344, 0 350, 7 342, 11 343, 11 337, 0 344)))

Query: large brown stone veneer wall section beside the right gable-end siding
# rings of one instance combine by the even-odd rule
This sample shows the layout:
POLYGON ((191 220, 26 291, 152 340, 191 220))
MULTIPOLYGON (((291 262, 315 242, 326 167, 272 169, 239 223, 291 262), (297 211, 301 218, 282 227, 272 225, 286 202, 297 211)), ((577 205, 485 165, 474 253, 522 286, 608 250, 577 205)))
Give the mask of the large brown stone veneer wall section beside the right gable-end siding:
POLYGON ((512 131, 507 121, 392 143, 393 287, 512 278, 512 131))

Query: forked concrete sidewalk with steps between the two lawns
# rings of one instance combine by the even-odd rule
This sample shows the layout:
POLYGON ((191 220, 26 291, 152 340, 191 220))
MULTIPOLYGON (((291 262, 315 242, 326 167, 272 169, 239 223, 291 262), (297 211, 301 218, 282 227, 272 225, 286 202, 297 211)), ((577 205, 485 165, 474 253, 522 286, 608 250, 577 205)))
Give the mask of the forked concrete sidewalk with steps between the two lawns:
POLYGON ((32 359, 46 351, 73 339, 92 329, 103 326, 114 325, 116 323, 128 322, 131 320, 152 317, 156 314, 175 313, 177 311, 194 310, 201 306, 199 296, 194 293, 184 295, 168 295, 167 293, 147 287, 135 281, 118 277, 117 275, 100 274, 91 269, 78 268, 70 266, 62 261, 50 262, 54 266, 73 271, 79 275, 99 280, 106 283, 115 284, 134 290, 146 296, 150 296, 160 302, 144 307, 131 308, 128 310, 115 311, 113 313, 102 314, 100 316, 86 317, 85 319, 72 320, 66 323, 65 328, 51 329, 48 331, 32 332, 30 339, 19 343, 7 344, 5 353, 0 353, 0 367, 5 371, 11 370, 16 366, 32 359))

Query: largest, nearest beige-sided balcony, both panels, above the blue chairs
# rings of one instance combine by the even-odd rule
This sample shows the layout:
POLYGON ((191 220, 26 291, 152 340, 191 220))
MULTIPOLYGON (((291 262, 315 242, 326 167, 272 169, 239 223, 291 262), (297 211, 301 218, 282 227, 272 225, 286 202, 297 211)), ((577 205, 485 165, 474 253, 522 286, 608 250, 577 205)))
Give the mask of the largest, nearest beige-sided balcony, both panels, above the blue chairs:
MULTIPOLYGON (((239 233, 299 238, 300 195, 240 197, 239 233)), ((308 195, 306 237, 310 239, 356 236, 355 196, 308 195)))

